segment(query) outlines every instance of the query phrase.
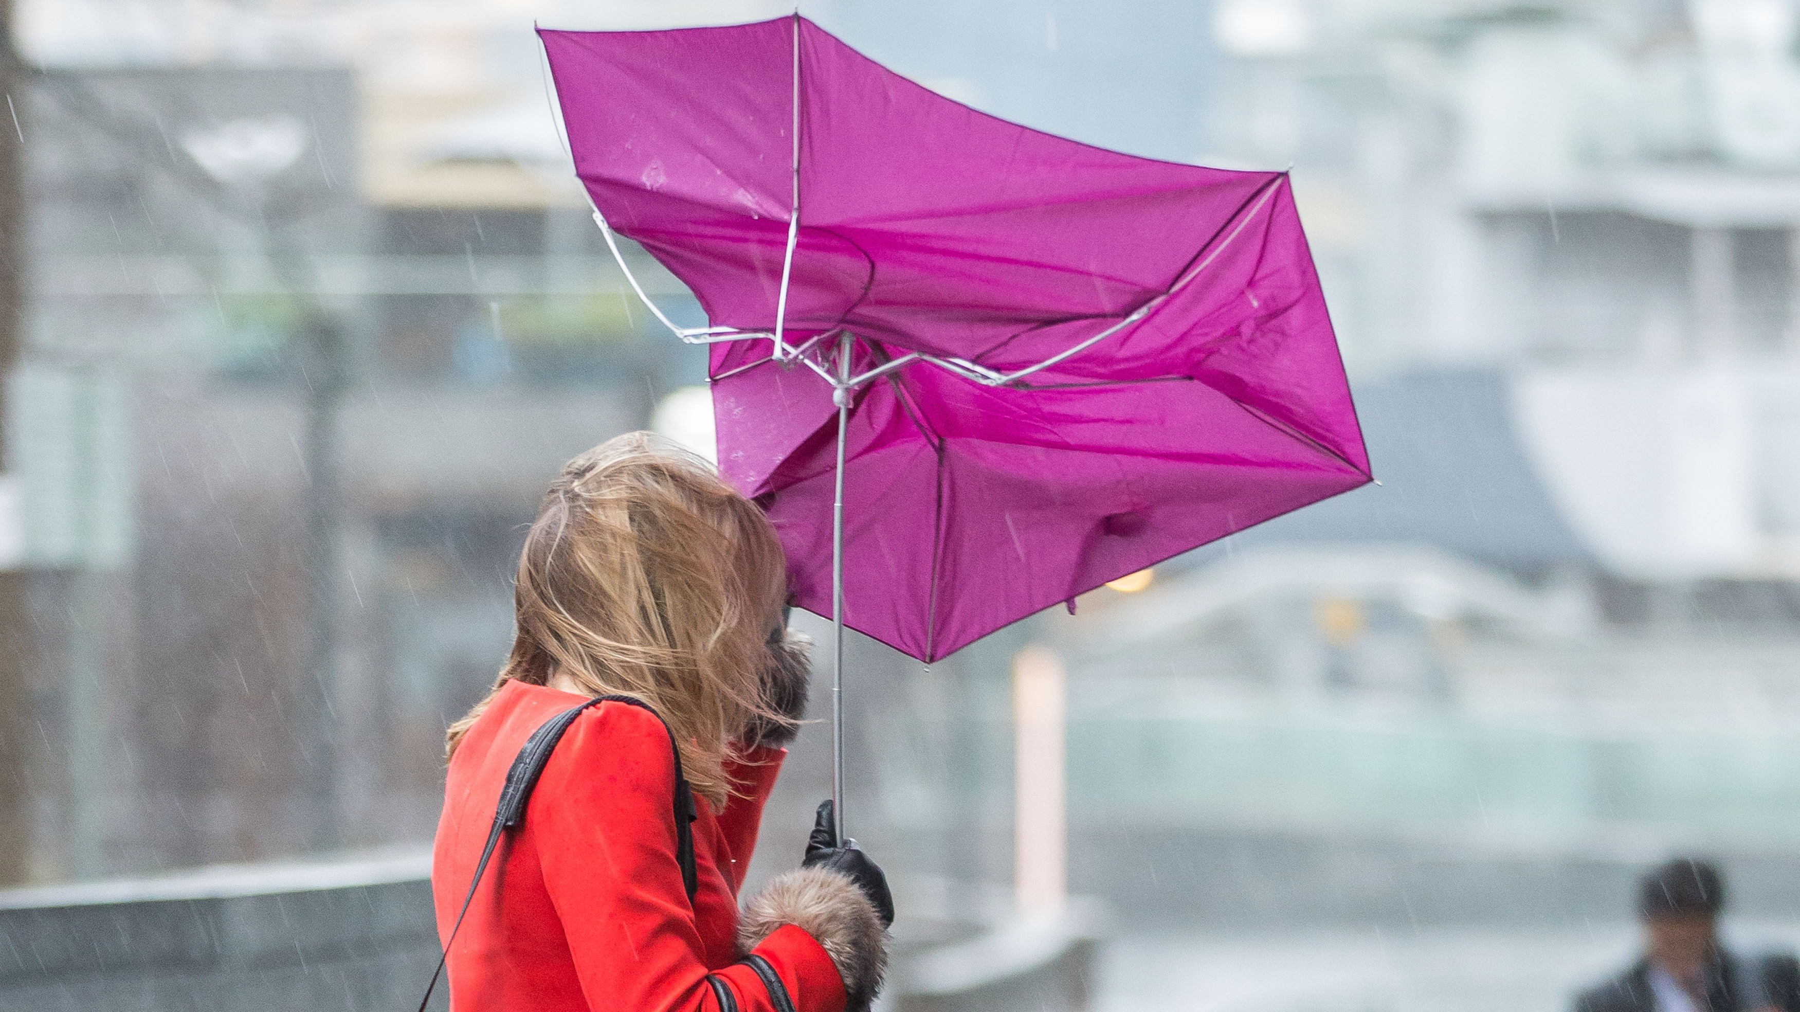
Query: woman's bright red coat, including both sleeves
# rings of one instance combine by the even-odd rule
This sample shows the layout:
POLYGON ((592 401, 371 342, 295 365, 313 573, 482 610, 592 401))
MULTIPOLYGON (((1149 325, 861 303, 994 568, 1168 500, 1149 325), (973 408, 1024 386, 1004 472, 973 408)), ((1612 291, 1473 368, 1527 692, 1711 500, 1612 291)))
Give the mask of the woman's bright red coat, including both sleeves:
MULTIPOLYGON (((585 702, 506 682, 450 760, 432 854, 437 935, 450 936, 493 825, 506 771, 545 720, 585 702)), ((450 949, 459 1012, 718 1012, 706 981, 729 983, 738 1012, 776 1012, 738 963, 738 888, 763 801, 787 756, 758 749, 727 767, 742 785, 724 812, 697 798, 693 906, 675 861, 675 760, 655 715, 621 702, 589 708, 563 735, 502 841, 450 949)), ((794 926, 756 953, 787 983, 794 1012, 842 1012, 844 985, 824 949, 794 926)))

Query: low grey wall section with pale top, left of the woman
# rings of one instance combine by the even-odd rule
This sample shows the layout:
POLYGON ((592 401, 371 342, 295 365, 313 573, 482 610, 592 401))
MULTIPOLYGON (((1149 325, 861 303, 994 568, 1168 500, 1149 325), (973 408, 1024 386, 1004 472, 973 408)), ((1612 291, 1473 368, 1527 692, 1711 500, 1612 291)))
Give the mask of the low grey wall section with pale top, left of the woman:
POLYGON ((0 1010, 412 1008, 428 872, 414 850, 4 891, 0 1010))

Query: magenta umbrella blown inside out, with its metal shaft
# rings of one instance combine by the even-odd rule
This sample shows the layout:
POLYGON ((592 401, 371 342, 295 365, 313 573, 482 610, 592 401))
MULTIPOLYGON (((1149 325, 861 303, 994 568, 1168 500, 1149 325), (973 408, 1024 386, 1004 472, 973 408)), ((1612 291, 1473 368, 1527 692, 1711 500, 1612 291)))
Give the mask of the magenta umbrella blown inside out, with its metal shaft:
POLYGON ((1372 481, 1285 173, 1017 126, 797 14, 540 36, 614 256, 707 313, 637 288, 839 627, 839 742, 842 625, 931 663, 1372 481))

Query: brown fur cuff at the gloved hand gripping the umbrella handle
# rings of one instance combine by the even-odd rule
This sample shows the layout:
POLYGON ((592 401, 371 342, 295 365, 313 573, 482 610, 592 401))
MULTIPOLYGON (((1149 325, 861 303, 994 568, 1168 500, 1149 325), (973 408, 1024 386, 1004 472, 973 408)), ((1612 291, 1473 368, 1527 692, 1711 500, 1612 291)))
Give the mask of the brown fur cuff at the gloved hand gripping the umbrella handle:
POLYGON ((844 980, 844 1012, 866 1012, 887 971, 887 933, 862 890, 824 868, 801 868, 769 882, 738 920, 738 949, 749 953, 783 924, 812 935, 844 980))

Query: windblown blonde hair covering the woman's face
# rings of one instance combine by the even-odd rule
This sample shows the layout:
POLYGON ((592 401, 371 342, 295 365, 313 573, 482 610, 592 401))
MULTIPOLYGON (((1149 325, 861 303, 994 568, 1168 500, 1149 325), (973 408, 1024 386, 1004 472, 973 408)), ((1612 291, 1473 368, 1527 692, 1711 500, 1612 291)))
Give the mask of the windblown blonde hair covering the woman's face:
POLYGON ((792 724, 761 686, 785 594, 781 542, 754 502, 657 436, 608 439, 544 493, 518 555, 513 652, 448 751, 508 681, 562 672, 655 709, 695 792, 724 805, 731 738, 752 718, 792 724))

